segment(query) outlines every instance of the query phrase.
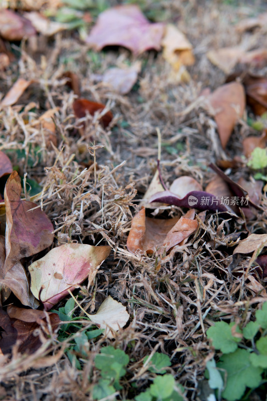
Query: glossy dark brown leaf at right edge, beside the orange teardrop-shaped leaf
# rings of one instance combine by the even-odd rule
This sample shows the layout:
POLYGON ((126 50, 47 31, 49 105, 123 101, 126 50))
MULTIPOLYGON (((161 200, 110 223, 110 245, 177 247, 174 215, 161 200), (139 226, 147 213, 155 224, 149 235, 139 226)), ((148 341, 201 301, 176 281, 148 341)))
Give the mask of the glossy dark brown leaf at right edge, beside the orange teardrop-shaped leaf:
POLYGON ((267 79, 247 75, 244 79, 247 104, 253 112, 261 116, 267 111, 267 79))

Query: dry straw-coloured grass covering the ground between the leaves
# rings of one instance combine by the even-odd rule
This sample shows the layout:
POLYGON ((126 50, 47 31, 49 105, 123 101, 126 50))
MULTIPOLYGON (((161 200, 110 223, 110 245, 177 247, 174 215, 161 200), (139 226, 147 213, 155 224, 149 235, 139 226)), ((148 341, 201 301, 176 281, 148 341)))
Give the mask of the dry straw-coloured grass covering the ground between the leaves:
MULTIPOLYGON (((145 3, 145 12, 155 7, 155 2, 145 3)), ((115 4, 110 2, 110 6, 115 4)), ((124 350, 130 358, 116 399, 134 399, 137 389, 147 388, 153 374, 139 374, 141 360, 156 350, 170 356, 167 371, 184 386, 185 399, 205 400, 205 364, 215 354, 206 330, 219 318, 247 322, 262 302, 257 298, 247 303, 259 297, 249 279, 243 278, 249 258, 240 258, 239 274, 233 276, 228 269, 232 248, 226 245, 244 227, 249 233, 265 233, 264 210, 246 226, 240 217, 226 222, 223 230, 218 229, 222 217, 207 212, 197 236, 191 236, 182 252, 161 265, 156 255, 136 256, 127 251, 132 217, 140 209, 140 200, 156 171, 157 127, 162 137, 161 171, 168 187, 180 175, 190 175, 205 187, 214 177, 208 168, 210 162, 242 156, 242 140, 254 133, 245 120, 235 126, 223 151, 212 116, 201 104, 190 105, 197 102, 204 88, 214 90, 225 82, 225 74, 208 61, 208 50, 241 42, 248 47, 253 43, 259 46, 266 40, 257 33, 251 39, 234 30, 241 19, 263 12, 263 1, 166 0, 156 6, 165 13, 164 21, 177 24, 192 43, 196 63, 188 67, 191 80, 186 84, 169 82, 171 67, 161 52, 134 57, 124 48, 112 47, 96 53, 75 30, 50 39, 39 36, 37 43, 15 43, 16 61, 0 72, 3 95, 18 77, 34 80, 18 102, 24 109, 17 105, 0 111, 0 149, 9 155, 21 176, 27 172, 43 188, 37 203, 42 203, 58 229, 54 246, 77 241, 112 247, 94 285, 87 288, 83 284, 80 303, 92 313, 111 295, 127 305, 130 314, 115 339, 100 336, 89 341, 90 352, 81 359, 82 370, 71 364, 66 353, 51 366, 42 367, 41 351, 28 357, 15 351, 12 359, 0 366, 0 399, 5 401, 93 399, 92 388, 99 380, 94 357, 105 345, 124 350), (98 81, 109 67, 131 65, 136 59, 142 69, 129 94, 116 94, 98 81), (112 110, 114 119, 108 128, 104 129, 99 120, 91 120, 80 134, 72 108, 75 95, 62 79, 64 71, 78 75, 82 97, 107 104, 112 110), (59 107, 54 116, 56 146, 49 144, 38 129, 25 128, 29 119, 37 119, 54 107, 59 107), (88 150, 93 144, 103 145, 95 151, 96 161, 88 150), (100 205, 95 195, 101 199, 100 205)), ((247 113, 249 116, 251 111, 247 113)), ((246 166, 230 171, 234 181, 249 174, 246 166)), ((266 200, 262 195, 262 205, 266 200)), ((153 211, 147 213, 152 216, 153 211)), ((157 217, 166 218, 185 211, 166 206, 157 213, 157 217)), ((26 265, 41 256, 29 258, 26 265)), ((264 287, 264 280, 258 281, 264 287)), ((83 316, 78 309, 76 314, 83 316)), ((54 338, 50 356, 62 347, 54 338)), ((263 399, 263 392, 254 391, 246 399, 263 399)))

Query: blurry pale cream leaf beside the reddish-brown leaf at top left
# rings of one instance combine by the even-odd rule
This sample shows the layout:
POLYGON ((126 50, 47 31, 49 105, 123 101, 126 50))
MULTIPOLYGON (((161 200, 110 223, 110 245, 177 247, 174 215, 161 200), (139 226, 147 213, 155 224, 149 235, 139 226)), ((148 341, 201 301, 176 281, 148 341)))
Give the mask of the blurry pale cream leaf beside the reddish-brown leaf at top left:
POLYGON ((62 24, 57 21, 51 21, 49 18, 44 17, 42 14, 32 11, 31 13, 24 13, 24 17, 31 21, 33 27, 37 32, 44 36, 52 36, 58 32, 69 29, 68 24, 62 24))

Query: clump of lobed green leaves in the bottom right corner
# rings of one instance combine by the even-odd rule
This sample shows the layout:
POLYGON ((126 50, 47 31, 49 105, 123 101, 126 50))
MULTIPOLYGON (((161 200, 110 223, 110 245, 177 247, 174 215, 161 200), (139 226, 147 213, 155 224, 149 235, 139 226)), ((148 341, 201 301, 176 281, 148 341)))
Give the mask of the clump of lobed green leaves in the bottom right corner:
POLYGON ((206 376, 210 388, 222 390, 218 378, 224 379, 222 396, 228 401, 239 400, 246 387, 257 388, 267 369, 267 302, 256 311, 256 320, 241 330, 234 323, 216 322, 207 330, 207 337, 222 352, 217 365, 207 364, 206 376), (213 376, 212 376, 213 375, 213 376))

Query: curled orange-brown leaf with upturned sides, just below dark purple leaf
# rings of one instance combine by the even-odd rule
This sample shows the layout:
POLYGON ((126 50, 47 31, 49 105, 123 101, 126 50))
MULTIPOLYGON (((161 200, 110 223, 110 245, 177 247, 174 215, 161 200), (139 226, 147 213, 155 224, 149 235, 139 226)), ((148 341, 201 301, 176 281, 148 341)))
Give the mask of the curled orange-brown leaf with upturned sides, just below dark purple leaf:
POLYGON ((145 208, 142 208, 132 220, 131 230, 127 239, 128 251, 135 253, 153 253, 158 250, 162 253, 188 238, 197 229, 197 221, 190 211, 189 218, 151 219, 146 217, 145 208))

